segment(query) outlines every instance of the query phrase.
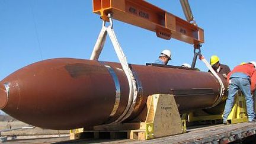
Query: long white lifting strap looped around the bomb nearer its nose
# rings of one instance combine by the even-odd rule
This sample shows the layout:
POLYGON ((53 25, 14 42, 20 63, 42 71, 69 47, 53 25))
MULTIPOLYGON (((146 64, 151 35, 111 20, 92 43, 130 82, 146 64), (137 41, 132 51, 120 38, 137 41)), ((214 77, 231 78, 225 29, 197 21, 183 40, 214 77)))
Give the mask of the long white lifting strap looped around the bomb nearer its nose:
MULTIPOLYGON (((111 17, 111 14, 108 14, 108 18, 110 19, 110 25, 108 27, 105 27, 105 22, 103 22, 103 28, 101 29, 100 35, 98 37, 98 40, 94 46, 94 50, 91 55, 91 60, 98 60, 100 53, 103 49, 105 39, 107 34, 110 36, 110 40, 114 46, 114 50, 117 54, 117 57, 119 58, 119 61, 121 63, 121 66, 123 68, 124 73, 126 74, 127 80, 129 82, 129 100, 126 105, 126 108, 121 114, 121 116, 114 121, 113 123, 121 123, 123 120, 127 119, 127 117, 132 114, 132 111, 134 110, 136 100, 137 100, 137 87, 136 87, 136 80, 133 76, 132 71, 129 68, 129 64, 127 63, 126 56, 123 53, 123 50, 121 49, 121 46, 119 42, 117 41, 116 34, 113 30, 113 20, 111 17)), ((111 123, 111 124, 113 124, 111 123)))

